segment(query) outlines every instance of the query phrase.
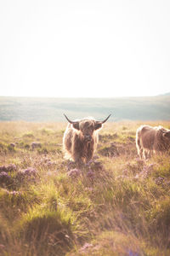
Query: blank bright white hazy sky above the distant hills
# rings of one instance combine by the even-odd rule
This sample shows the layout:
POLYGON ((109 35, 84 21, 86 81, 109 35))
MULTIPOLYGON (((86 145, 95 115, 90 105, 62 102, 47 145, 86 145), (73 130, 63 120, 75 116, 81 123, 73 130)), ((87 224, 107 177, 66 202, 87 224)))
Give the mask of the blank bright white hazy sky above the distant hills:
POLYGON ((0 96, 169 92, 169 14, 169 0, 1 0, 0 96))

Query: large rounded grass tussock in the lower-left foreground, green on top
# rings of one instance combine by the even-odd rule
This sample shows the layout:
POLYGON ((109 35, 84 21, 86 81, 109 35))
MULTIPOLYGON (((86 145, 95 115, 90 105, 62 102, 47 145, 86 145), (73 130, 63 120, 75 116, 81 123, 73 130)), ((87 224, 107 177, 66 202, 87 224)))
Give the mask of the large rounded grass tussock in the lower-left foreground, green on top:
POLYGON ((74 241, 71 218, 68 212, 52 211, 42 205, 33 207, 21 220, 20 236, 28 246, 33 242, 38 254, 48 248, 48 254, 57 251, 64 255, 74 241))

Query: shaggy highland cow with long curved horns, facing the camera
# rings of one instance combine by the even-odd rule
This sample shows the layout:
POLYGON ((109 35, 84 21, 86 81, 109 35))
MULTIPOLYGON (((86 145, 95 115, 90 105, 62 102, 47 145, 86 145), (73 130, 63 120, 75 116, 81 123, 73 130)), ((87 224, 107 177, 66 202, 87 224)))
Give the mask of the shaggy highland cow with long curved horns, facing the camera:
POLYGON ((104 121, 93 118, 71 121, 65 115, 69 122, 63 137, 65 158, 78 164, 88 163, 93 158, 99 141, 98 131, 110 116, 111 114, 104 121))

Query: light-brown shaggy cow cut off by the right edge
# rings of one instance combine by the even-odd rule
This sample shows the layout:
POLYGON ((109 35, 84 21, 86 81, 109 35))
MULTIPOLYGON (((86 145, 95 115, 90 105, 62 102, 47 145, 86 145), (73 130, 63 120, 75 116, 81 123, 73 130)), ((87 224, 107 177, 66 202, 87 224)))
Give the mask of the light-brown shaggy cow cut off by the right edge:
POLYGON ((151 152, 165 152, 170 148, 170 130, 162 126, 141 125, 136 131, 139 157, 146 159, 151 152))

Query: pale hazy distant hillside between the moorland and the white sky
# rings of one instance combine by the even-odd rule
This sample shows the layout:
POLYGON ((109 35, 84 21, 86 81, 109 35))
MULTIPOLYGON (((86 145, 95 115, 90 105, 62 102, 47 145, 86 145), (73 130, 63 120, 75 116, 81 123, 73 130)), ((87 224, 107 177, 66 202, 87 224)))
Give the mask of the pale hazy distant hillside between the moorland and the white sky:
POLYGON ((170 96, 120 98, 0 97, 0 120, 65 121, 93 116, 117 120, 170 120, 170 96))

